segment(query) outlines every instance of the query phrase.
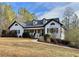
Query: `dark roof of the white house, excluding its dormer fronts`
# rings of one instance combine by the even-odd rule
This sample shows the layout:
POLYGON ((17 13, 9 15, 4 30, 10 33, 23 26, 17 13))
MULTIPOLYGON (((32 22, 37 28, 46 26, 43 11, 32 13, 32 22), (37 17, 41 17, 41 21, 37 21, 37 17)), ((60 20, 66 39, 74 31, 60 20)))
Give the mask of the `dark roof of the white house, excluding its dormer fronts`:
MULTIPOLYGON (((45 19, 45 18, 44 18, 45 19)), ((23 28, 36 28, 36 27, 44 27, 44 26, 46 26, 49 22, 51 22, 51 21, 55 21, 56 23, 58 23, 58 24, 60 24, 62 27, 64 27, 63 26, 63 24, 62 23, 60 23, 60 21, 59 21, 59 18, 52 18, 52 19, 45 19, 47 22, 44 24, 43 23, 43 20, 44 19, 42 19, 42 20, 32 20, 31 22, 25 22, 25 23, 20 23, 20 22, 17 22, 17 21, 14 21, 8 28, 10 29, 10 27, 14 24, 14 23, 18 23, 20 26, 22 26, 23 28), (33 24, 33 21, 36 21, 37 22, 37 24, 33 24)))

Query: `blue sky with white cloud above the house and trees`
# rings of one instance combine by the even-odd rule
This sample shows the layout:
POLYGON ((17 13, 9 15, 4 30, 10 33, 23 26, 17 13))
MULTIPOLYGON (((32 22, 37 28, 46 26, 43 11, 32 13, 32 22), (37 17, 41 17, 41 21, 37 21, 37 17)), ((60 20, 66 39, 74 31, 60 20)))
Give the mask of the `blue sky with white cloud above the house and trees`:
POLYGON ((26 8, 30 13, 35 14, 38 19, 42 18, 62 18, 66 7, 71 7, 79 15, 79 3, 77 2, 5 2, 12 6, 18 13, 21 7, 26 8))

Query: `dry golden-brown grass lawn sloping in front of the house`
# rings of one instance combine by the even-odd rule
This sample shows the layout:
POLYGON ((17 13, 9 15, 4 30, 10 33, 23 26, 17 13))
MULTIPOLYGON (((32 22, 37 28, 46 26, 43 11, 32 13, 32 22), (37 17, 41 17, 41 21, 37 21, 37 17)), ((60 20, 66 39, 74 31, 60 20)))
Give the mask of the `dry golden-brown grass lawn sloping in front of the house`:
POLYGON ((64 48, 48 43, 36 43, 31 39, 0 38, 0 56, 79 56, 78 49, 64 48))

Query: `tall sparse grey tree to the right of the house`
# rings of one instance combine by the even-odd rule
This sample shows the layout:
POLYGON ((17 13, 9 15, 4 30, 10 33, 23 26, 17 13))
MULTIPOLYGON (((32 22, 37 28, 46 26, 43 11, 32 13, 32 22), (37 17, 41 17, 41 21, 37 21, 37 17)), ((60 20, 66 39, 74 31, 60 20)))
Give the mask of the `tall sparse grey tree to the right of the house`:
POLYGON ((72 8, 67 7, 64 11, 62 21, 65 27, 67 29, 77 27, 77 20, 78 16, 75 14, 75 11, 72 8))

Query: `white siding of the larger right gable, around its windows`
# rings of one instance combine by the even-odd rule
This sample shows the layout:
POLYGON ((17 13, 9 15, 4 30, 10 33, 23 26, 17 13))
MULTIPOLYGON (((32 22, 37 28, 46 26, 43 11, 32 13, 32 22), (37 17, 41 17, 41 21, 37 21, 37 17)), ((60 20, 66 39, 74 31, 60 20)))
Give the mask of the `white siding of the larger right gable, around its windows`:
POLYGON ((62 27, 60 26, 59 23, 54 22, 54 21, 51 21, 50 23, 48 23, 45 26, 45 34, 47 34, 47 28, 58 28, 58 33, 52 33, 52 34, 54 34, 57 39, 64 39, 64 30, 62 31, 62 34, 61 34, 60 29, 62 27), (51 25, 51 23, 55 23, 55 25, 51 25))

